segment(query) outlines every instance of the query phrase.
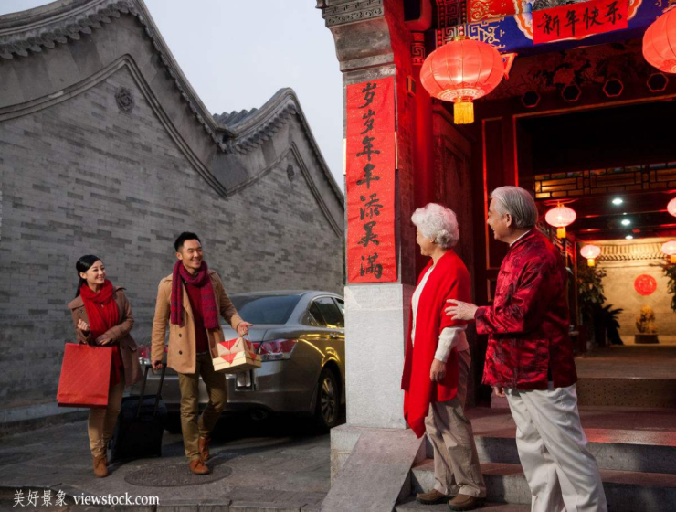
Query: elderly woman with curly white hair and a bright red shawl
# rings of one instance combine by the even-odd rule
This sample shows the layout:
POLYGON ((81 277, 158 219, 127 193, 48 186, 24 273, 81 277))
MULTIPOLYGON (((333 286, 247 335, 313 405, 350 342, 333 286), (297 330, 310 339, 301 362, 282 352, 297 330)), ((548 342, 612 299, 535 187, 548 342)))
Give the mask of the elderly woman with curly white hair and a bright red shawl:
POLYGON ((429 262, 411 299, 404 416, 418 437, 428 433, 436 481, 431 491, 416 497, 425 505, 449 502, 451 510, 471 510, 481 506, 486 486, 463 411, 471 362, 467 322, 444 315, 447 300, 470 301, 470 273, 452 250, 459 239, 453 211, 432 203, 418 208, 411 220, 420 253, 429 262))

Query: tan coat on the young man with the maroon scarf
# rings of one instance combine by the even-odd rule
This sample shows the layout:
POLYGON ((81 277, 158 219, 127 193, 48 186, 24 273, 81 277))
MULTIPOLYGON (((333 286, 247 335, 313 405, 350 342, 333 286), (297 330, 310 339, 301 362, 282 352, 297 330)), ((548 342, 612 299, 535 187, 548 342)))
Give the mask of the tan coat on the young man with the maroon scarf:
MULTIPOLYGON (((221 278, 214 271, 209 271, 211 284, 214 287, 216 295, 216 305, 218 311, 226 319, 227 323, 237 330, 242 318, 238 315, 237 309, 230 302, 226 289, 223 286, 221 278)), ((173 276, 169 274, 162 281, 157 289, 157 303, 155 304, 155 318, 153 320, 153 361, 161 361, 164 356, 164 335, 166 327, 169 325, 169 348, 166 358, 167 365, 174 368, 178 373, 195 373, 196 344, 195 344, 195 325, 193 324, 193 310, 190 307, 188 294, 183 289, 183 326, 169 323, 172 307, 172 281, 173 276)), ((206 329, 209 339, 209 350, 212 357, 217 357, 217 343, 224 341, 223 330, 206 329)))

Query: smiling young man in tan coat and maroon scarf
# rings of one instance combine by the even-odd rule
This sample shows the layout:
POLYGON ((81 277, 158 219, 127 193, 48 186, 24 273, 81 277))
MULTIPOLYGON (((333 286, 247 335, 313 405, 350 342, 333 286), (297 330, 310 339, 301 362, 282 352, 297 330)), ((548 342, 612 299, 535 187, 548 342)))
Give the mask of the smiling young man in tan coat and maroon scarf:
POLYGON ((169 323, 167 365, 178 373, 181 389, 181 427, 190 470, 208 475, 209 435, 226 405, 226 378, 214 371, 211 362, 216 344, 224 341, 218 322, 222 315, 240 336, 251 324, 242 320, 227 297, 221 278, 210 271, 195 233, 184 232, 174 242, 177 261, 157 290, 153 320, 153 368, 162 368, 164 333, 169 323), (199 378, 202 377, 209 403, 197 418, 199 378))

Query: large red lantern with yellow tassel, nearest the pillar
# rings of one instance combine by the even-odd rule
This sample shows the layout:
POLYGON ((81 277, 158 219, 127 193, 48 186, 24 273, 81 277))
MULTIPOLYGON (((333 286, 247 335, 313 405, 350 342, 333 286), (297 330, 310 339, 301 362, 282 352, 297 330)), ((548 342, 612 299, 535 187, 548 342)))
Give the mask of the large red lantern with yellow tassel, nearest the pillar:
POLYGON ((474 123, 472 101, 495 89, 503 76, 498 50, 464 36, 434 50, 420 69, 420 82, 431 96, 453 101, 456 124, 474 123))

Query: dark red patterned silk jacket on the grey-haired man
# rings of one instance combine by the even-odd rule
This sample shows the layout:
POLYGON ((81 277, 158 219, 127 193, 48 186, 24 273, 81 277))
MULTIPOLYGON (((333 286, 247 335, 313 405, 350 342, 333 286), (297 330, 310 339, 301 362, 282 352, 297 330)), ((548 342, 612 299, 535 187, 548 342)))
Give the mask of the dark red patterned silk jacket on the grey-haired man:
POLYGON ((492 306, 480 307, 477 333, 489 335, 483 383, 516 389, 555 388, 577 380, 568 336, 565 266, 537 229, 512 244, 492 306))

